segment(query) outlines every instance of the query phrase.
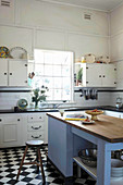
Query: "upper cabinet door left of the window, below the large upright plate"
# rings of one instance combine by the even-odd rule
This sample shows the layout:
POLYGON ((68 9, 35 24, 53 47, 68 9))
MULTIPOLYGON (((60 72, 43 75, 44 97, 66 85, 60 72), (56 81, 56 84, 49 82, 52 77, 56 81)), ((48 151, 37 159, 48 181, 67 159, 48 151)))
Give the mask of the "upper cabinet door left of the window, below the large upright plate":
POLYGON ((9 86, 27 86, 27 61, 9 61, 9 86))

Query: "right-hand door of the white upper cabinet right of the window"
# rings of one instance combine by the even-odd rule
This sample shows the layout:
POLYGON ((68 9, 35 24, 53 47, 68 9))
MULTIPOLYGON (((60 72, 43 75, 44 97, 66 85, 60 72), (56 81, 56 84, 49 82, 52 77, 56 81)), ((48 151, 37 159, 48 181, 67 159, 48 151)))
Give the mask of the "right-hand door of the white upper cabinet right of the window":
POLYGON ((102 87, 115 87, 116 86, 116 73, 114 64, 102 65, 102 87))

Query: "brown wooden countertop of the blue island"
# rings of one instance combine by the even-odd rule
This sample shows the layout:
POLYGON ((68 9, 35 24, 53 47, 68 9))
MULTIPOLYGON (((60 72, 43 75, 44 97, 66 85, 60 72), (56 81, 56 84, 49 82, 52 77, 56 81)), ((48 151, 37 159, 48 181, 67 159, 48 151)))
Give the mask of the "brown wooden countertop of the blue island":
POLYGON ((82 124, 81 121, 65 120, 66 113, 64 113, 63 116, 61 116, 59 112, 47 113, 47 115, 56 118, 59 121, 102 138, 109 143, 123 143, 123 119, 101 114, 98 115, 98 121, 95 121, 95 123, 82 124))

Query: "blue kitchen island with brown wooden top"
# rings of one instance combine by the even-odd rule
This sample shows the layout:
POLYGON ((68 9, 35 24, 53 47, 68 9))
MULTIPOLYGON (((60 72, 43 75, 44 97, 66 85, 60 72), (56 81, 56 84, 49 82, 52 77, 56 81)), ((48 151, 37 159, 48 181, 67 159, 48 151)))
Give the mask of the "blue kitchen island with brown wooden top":
POLYGON ((73 176, 75 161, 97 181, 97 185, 112 184, 111 151, 123 149, 123 120, 98 115, 98 121, 85 125, 81 121, 66 121, 66 114, 48 113, 48 158, 65 177, 73 176), (88 168, 79 160, 78 151, 95 146, 98 149, 97 168, 88 168))

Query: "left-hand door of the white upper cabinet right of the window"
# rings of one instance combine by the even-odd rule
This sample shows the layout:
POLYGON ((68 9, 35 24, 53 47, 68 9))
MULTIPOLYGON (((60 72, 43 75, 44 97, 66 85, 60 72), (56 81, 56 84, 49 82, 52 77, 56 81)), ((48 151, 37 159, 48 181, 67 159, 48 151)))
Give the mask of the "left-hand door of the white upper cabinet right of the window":
POLYGON ((100 87, 101 86, 101 65, 87 64, 86 86, 87 87, 100 87))

